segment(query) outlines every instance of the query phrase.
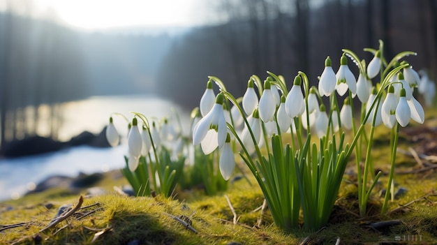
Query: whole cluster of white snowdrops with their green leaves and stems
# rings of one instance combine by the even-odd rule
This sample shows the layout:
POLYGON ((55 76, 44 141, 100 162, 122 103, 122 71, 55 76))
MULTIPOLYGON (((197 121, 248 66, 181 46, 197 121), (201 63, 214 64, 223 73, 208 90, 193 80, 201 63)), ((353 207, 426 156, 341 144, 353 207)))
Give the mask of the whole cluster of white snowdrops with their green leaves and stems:
MULTIPOLYGON (((390 176, 382 208, 387 211, 399 128, 412 120, 424 122, 416 90, 431 105, 436 88, 403 61, 414 52, 401 52, 387 62, 382 41, 378 50, 364 50, 373 53, 368 64, 354 52, 342 50, 336 73, 327 57, 317 87, 310 87, 303 72, 297 73, 290 89, 282 76, 267 72, 264 82, 252 75, 244 96, 235 98, 218 77, 209 77, 200 106, 191 114, 188 137, 182 134, 177 117, 149 120, 133 112, 133 119, 126 119, 124 176, 137 195, 155 191, 168 196, 178 181, 187 179, 182 175, 188 164, 191 178, 197 177, 207 194, 214 195, 225 190, 224 180, 239 166, 237 156, 258 182, 279 228, 286 232, 299 228, 302 214, 304 228, 317 230, 329 219, 351 156, 357 165, 360 214, 366 214, 380 177, 370 171, 373 132, 383 124, 392 132, 390 176), (348 60, 358 67, 357 77, 348 60), (353 100, 360 101, 360 108, 354 108, 358 103, 353 100)), ((119 144, 112 117, 107 138, 113 146, 119 144)), ((246 171, 239 170, 244 176, 246 171)))

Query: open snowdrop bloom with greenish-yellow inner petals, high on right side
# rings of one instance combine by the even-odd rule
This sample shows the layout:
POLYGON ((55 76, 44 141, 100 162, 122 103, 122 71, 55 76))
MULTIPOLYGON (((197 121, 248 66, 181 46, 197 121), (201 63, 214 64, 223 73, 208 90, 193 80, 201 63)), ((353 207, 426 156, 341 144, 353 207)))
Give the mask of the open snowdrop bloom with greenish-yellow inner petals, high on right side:
POLYGON ((352 94, 357 93, 357 80, 355 79, 352 71, 350 71, 348 66, 348 59, 344 54, 341 56, 340 68, 339 71, 337 71, 335 77, 337 81, 336 91, 339 96, 343 96, 344 94, 346 94, 348 88, 352 92, 352 94))

